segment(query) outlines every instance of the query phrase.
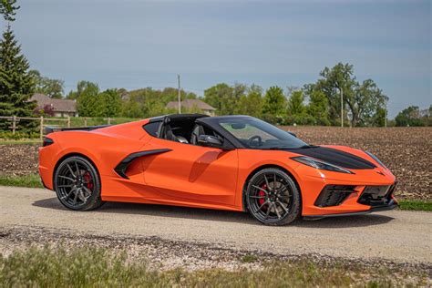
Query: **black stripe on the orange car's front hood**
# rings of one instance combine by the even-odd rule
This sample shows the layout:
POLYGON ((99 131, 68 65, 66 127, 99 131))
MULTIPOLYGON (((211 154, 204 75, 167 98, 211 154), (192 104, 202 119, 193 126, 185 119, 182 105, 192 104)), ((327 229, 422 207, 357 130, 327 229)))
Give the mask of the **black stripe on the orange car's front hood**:
POLYGON ((315 159, 323 160, 324 162, 340 166, 346 169, 374 169, 376 166, 374 163, 369 162, 366 159, 355 156, 351 153, 347 153, 338 149, 326 148, 326 147, 309 147, 300 149, 286 149, 287 151, 309 156, 315 159))

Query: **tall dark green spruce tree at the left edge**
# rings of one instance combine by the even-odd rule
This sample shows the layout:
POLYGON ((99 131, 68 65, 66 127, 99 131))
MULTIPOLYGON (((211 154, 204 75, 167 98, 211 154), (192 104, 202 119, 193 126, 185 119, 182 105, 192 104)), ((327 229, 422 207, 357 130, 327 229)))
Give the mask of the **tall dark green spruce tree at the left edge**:
MULTIPOLYGON (((30 102, 34 92, 32 77, 28 74, 28 61, 21 54, 10 26, 7 26, 0 43, 0 115, 32 116, 36 103, 30 102)), ((34 127, 29 122, 26 128, 34 127)), ((0 129, 8 129, 10 123, 3 121, 0 129)))

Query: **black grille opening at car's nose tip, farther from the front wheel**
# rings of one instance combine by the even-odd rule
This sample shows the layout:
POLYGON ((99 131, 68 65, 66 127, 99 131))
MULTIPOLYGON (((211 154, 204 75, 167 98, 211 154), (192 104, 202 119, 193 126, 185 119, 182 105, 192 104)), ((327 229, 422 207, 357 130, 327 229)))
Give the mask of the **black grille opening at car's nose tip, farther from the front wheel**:
POLYGON ((395 189, 396 183, 390 186, 366 186, 358 202, 372 207, 386 206, 392 200, 395 189))

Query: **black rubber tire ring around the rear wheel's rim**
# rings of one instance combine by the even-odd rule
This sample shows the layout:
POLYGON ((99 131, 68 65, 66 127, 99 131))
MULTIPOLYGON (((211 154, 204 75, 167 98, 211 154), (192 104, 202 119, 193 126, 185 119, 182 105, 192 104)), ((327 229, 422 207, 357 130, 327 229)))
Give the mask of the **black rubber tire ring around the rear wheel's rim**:
POLYGON ((83 157, 72 156, 72 157, 69 157, 67 159, 64 159, 60 163, 60 165, 58 165, 56 173, 55 173, 55 176, 54 176, 54 190, 56 191, 58 200, 67 209, 74 210, 74 211, 87 211, 87 210, 91 210, 100 201, 100 180, 99 180, 99 176, 98 176, 98 171, 96 170, 96 168, 94 167, 94 165, 90 161, 88 161, 87 159, 85 159, 83 157), (88 171, 90 172, 90 174, 91 174, 91 176, 92 176, 92 178, 94 180, 94 185, 95 185, 93 193, 91 194, 91 196, 88 199, 87 203, 85 205, 81 205, 81 206, 77 206, 77 207, 71 206, 66 201, 62 200, 61 199, 61 195, 59 194, 58 189, 57 189, 57 178, 59 176, 58 175, 59 171, 62 170, 62 168, 64 168, 65 165, 67 165, 67 163, 70 162, 70 161, 78 161, 78 162, 81 162, 82 164, 86 165, 88 171))

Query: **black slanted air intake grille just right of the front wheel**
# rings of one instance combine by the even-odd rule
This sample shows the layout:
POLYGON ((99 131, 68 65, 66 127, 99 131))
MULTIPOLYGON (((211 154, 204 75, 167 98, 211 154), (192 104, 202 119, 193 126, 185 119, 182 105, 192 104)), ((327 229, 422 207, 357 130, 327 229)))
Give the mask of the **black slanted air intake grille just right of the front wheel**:
POLYGON ((318 207, 337 206, 342 204, 353 192, 355 192, 353 185, 327 185, 321 191, 314 205, 318 207))

